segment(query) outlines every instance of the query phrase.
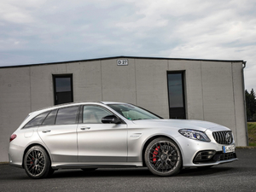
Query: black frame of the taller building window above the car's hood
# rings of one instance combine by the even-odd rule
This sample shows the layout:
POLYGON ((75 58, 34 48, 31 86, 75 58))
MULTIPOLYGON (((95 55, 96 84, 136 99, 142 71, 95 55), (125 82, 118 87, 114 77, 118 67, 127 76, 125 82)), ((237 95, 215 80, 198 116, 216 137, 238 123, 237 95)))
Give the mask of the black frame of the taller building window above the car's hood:
POLYGON ((168 109, 169 109, 169 118, 170 119, 187 119, 187 105, 186 105, 186 96, 185 96, 185 71, 167 71, 166 73, 166 78, 167 78, 167 93, 168 93, 168 109), (181 74, 182 76, 182 90, 183 90, 183 118, 174 118, 172 116, 172 108, 170 107, 170 90, 169 90, 169 79, 168 75, 169 74, 181 74))

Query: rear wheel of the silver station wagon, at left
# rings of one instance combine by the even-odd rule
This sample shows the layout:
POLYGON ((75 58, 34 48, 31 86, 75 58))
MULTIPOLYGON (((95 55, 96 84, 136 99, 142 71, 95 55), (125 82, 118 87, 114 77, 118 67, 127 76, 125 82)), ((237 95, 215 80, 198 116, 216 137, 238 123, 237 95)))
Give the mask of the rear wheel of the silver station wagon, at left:
POLYGON ((49 177, 55 170, 50 167, 49 156, 40 146, 33 146, 26 152, 23 160, 26 174, 32 178, 49 177))

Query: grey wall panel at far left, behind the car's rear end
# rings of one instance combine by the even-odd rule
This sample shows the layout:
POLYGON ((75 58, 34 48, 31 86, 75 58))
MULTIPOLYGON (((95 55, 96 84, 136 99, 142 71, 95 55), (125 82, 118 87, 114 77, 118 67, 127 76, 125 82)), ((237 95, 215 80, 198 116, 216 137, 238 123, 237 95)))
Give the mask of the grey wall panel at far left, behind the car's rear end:
POLYGON ((0 162, 8 161, 9 137, 31 112, 29 67, 0 69, 0 162))

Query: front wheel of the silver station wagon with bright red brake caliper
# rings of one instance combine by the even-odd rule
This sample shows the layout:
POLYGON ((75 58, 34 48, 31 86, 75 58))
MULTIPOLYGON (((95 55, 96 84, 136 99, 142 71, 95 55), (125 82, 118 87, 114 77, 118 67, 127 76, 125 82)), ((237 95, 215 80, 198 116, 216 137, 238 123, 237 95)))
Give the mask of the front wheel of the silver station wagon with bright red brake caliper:
POLYGON ((171 139, 159 137, 148 144, 144 154, 145 164, 157 176, 173 176, 182 168, 182 155, 171 139))

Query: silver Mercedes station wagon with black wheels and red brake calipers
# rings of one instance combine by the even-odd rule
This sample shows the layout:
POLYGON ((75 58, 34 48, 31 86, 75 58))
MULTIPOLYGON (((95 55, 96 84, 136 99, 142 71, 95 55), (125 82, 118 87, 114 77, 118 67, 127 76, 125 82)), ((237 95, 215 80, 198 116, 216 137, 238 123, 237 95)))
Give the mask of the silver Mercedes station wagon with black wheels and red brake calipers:
POLYGON ((143 167, 172 176, 183 167, 237 160, 229 128, 162 119, 121 102, 77 102, 32 112, 12 134, 9 165, 32 178, 63 168, 143 167))

